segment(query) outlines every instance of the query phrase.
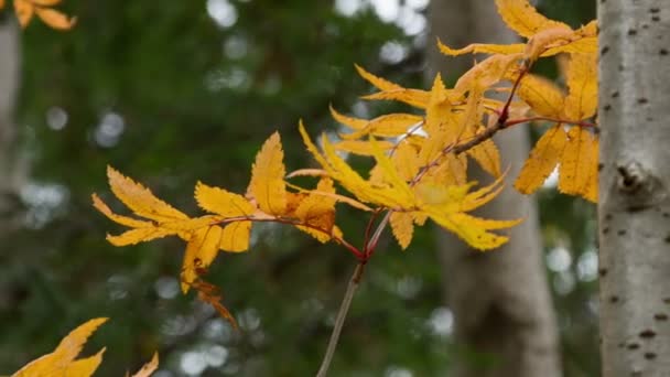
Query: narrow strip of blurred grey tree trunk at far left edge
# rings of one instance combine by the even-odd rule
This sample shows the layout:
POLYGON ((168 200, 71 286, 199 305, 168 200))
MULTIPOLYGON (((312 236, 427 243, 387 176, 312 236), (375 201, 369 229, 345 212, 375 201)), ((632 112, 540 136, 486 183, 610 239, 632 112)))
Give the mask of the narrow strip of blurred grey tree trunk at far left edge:
POLYGON ((15 163, 14 105, 19 87, 19 28, 0 11, 0 237, 12 226, 21 172, 15 163))

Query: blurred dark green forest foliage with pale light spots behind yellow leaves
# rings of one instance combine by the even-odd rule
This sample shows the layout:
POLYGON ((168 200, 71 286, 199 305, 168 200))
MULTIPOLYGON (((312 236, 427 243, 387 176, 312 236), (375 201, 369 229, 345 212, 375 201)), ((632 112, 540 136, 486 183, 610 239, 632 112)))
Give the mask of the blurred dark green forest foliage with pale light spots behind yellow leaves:
MULTIPOLYGON (((91 207, 90 194, 125 213, 107 186, 110 164, 197 214, 195 182, 244 191, 273 130, 294 170, 311 163, 299 119, 315 136, 336 130, 331 104, 357 117, 407 111, 361 101, 370 87, 354 63, 424 87, 436 49, 429 2, 65 0, 58 9, 78 18, 68 32, 37 20, 20 31, 11 7, 1 11, 0 373, 51 352, 79 323, 109 316, 86 348, 107 346, 97 376, 134 370, 155 349, 158 377, 313 375, 355 266, 348 252, 288 227, 256 226, 250 252, 220 255, 208 276, 240 324, 235 332, 181 294, 181 240, 112 247, 105 235, 121 228, 91 207)), ((573 26, 595 17, 591 1, 538 8, 573 26)), ((537 69, 558 74, 553 62, 537 69)), ((594 207, 554 185, 537 197, 563 373, 595 376, 594 207)), ((360 241, 363 216, 343 206, 337 223, 360 241)), ((331 375, 446 375, 462 352, 433 227, 406 252, 390 234, 380 249, 331 375)))

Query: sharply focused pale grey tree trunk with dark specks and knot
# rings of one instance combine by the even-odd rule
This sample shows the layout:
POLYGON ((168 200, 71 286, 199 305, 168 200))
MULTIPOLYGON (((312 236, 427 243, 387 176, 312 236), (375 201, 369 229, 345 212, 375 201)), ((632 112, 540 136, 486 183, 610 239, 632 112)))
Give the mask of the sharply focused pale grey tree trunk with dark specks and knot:
POLYGON ((670 2, 598 2, 603 376, 670 374, 670 2))

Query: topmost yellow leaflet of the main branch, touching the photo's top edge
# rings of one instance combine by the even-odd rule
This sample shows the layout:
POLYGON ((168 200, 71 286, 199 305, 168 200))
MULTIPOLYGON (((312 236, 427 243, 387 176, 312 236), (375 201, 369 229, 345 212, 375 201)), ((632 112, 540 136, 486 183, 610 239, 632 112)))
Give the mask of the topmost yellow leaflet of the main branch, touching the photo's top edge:
POLYGON ((566 24, 550 20, 538 13, 528 0, 496 0, 498 13, 507 25, 519 35, 531 37, 550 28, 568 28, 566 24))

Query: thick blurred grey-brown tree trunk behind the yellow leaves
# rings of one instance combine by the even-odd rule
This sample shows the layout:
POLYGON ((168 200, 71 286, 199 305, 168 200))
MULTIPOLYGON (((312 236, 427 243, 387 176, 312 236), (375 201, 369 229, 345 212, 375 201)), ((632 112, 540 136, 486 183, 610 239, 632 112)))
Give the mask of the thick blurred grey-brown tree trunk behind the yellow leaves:
MULTIPOLYGON (((441 55, 434 43, 436 36, 455 47, 472 42, 516 40, 491 0, 433 0, 429 23, 432 29, 429 66, 445 78, 453 79, 469 68, 473 57, 455 61, 441 55)), ((429 74, 432 76, 434 72, 429 74)), ((515 127, 501 132, 496 143, 502 164, 511 166, 509 177, 514 179, 528 157, 528 129, 515 127)), ((485 176, 473 179, 482 181, 485 176)), ((455 317, 455 338, 463 351, 453 376, 560 376, 556 324, 536 203, 508 187, 479 214, 493 218, 523 217, 525 222, 510 231, 507 245, 486 254, 440 231, 444 290, 455 317)))

